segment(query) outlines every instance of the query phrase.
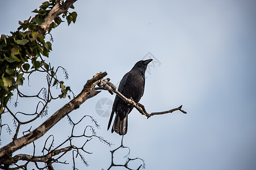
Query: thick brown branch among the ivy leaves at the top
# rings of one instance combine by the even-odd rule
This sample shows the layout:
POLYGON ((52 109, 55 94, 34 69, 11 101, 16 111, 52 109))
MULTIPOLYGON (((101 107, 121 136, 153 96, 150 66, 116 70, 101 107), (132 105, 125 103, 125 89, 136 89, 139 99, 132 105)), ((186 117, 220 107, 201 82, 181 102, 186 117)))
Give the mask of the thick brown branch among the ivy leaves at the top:
POLYGON ((60 1, 56 1, 56 5, 53 6, 52 10, 49 11, 46 18, 44 18, 44 23, 40 25, 43 31, 46 31, 49 28, 49 25, 51 24, 53 19, 67 11, 68 8, 71 7, 72 4, 76 1, 77 0, 67 0, 63 5, 60 5, 60 1))

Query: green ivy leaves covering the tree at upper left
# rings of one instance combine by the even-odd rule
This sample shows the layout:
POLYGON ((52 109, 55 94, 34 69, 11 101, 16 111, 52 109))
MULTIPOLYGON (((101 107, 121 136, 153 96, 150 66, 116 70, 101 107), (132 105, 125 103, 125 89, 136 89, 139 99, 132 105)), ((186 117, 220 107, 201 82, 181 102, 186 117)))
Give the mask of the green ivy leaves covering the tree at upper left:
MULTIPOLYGON (((53 67, 45 62, 43 57, 49 57, 52 44, 46 41, 46 32, 42 32, 40 25, 44 23, 48 12, 51 11, 56 3, 63 4, 63 1, 56 2, 49 0, 35 12, 34 18, 19 21, 19 28, 11 32, 10 36, 1 35, 0 39, 0 114, 5 110, 5 106, 13 95, 13 90, 23 85, 24 74, 31 74, 35 71, 46 71, 49 76, 55 78, 56 83, 60 84, 60 97, 67 96, 70 87, 65 87, 62 81, 57 80, 53 67)), ((74 8, 73 5, 71 8, 74 8)), ((64 12, 63 18, 67 19, 68 25, 76 22, 76 12, 64 12)), ((63 20, 57 16, 49 25, 47 33, 56 28, 63 20)))

